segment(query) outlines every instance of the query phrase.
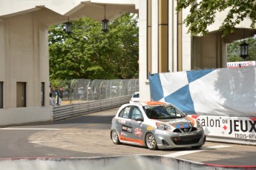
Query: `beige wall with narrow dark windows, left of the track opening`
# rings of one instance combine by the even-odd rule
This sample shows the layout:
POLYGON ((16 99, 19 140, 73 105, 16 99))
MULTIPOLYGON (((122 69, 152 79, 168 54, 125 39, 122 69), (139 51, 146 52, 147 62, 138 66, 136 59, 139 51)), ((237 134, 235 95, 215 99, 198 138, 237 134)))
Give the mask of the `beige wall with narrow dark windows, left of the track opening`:
POLYGON ((40 16, 26 13, 0 22, 0 81, 4 82, 0 126, 52 120, 47 26, 41 24, 40 16), (26 107, 16 107, 17 82, 27 85, 26 107), (45 106, 41 106, 41 82, 45 83, 45 106))

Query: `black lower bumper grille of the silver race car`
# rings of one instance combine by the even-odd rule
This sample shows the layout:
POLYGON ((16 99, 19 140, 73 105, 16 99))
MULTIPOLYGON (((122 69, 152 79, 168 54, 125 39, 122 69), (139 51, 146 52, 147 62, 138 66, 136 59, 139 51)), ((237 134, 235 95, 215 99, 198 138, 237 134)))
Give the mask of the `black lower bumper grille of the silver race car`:
POLYGON ((188 136, 179 136, 171 137, 171 140, 175 145, 189 145, 193 143, 199 143, 202 135, 188 135, 188 136))

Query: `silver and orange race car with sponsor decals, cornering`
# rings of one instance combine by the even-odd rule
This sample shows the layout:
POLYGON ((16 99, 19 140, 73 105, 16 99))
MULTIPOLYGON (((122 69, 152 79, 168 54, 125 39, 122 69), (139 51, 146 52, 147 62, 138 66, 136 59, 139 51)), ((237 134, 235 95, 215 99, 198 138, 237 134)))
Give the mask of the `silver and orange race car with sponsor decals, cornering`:
POLYGON ((198 120, 170 103, 149 101, 122 105, 112 119, 111 140, 148 149, 200 148, 206 135, 198 120))

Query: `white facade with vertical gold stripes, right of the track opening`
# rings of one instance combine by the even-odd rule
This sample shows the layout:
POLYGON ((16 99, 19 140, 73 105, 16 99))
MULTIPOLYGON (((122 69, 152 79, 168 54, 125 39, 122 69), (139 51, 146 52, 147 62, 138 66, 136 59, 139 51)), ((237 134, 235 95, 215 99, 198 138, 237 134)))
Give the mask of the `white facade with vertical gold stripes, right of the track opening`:
MULTIPOLYGON (((200 0, 199 0, 200 1, 200 0)), ((189 9, 177 13, 177 1, 140 0, 140 100, 151 100, 148 75, 193 69, 223 68, 227 64, 227 44, 252 37, 246 18, 234 33, 218 32, 229 9, 217 13, 209 34, 191 35, 183 24, 189 9)))

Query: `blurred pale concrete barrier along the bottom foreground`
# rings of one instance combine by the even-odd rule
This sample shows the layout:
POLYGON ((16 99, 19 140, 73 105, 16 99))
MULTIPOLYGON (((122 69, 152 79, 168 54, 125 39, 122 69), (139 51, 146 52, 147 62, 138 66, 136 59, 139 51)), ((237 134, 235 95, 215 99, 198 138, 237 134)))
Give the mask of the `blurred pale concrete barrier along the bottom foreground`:
MULTIPOLYGON (((172 157, 152 155, 134 155, 122 157, 91 158, 35 158, 35 159, 1 159, 2 170, 223 170, 248 169, 248 167, 208 166, 172 157)), ((250 167, 249 169, 254 167, 250 167)), ((256 166, 255 166, 256 168, 256 166)))

